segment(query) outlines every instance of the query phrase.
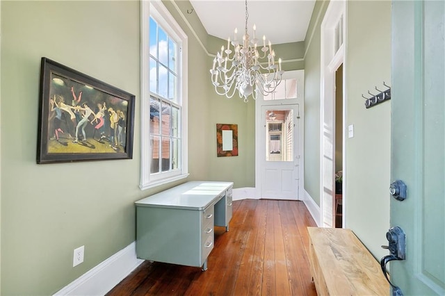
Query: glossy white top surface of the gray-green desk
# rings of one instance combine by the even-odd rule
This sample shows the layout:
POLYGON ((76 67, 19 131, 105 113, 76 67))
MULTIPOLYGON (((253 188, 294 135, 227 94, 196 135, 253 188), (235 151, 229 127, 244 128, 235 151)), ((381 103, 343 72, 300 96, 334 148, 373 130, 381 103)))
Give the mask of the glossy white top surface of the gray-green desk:
POLYGON ((191 181, 135 202, 136 206, 202 211, 223 197, 233 182, 191 181))

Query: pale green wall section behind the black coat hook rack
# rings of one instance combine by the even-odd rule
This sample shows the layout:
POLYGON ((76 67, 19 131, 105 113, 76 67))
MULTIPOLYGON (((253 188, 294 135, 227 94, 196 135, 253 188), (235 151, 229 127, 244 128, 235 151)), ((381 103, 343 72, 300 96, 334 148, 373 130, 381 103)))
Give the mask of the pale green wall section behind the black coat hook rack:
POLYGON ((381 258, 388 254, 391 103, 366 109, 362 94, 391 81, 391 2, 348 1, 346 49, 346 227, 381 258), (378 15, 378 22, 375 16, 378 15))

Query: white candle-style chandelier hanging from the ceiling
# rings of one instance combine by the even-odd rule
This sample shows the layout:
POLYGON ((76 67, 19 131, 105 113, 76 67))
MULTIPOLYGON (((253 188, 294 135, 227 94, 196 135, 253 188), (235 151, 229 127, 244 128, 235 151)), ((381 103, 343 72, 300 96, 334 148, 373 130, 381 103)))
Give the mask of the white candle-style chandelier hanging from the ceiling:
POLYGON ((278 59, 278 65, 275 63, 275 51, 270 40, 266 46, 266 35, 263 35, 263 47, 257 49, 255 25, 253 25, 253 38, 250 40, 248 18, 248 1, 245 0, 245 33, 242 43, 236 40, 238 29, 235 28, 234 40, 231 42, 230 38, 227 39, 227 49, 221 47, 210 69, 211 81, 217 94, 230 99, 238 90, 239 97, 244 97, 245 102, 248 102, 251 94, 257 99, 259 93, 266 96, 274 92, 284 73, 281 69, 281 58, 278 59))

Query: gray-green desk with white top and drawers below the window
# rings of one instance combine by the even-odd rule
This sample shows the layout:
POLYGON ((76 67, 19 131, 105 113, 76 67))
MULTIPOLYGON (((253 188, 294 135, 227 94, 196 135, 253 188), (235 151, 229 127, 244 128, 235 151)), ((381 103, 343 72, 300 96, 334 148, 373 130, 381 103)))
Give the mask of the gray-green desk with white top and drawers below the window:
POLYGON ((202 267, 213 249, 214 226, 229 231, 232 182, 192 181, 136 202, 136 255, 202 267))

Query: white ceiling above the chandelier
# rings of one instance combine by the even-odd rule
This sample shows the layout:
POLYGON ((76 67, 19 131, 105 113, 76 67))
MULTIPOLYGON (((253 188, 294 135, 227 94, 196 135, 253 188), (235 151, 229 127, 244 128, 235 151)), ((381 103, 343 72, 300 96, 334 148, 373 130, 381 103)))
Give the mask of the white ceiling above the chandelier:
MULTIPOLYGON (((210 35, 227 40, 234 38, 238 28, 238 40, 245 31, 244 0, 190 0, 202 24, 210 35)), ((273 44, 305 40, 315 0, 249 0, 248 33, 252 38, 253 25, 256 24, 255 37, 273 44)), ((191 11, 188 10, 189 12, 191 11)))

